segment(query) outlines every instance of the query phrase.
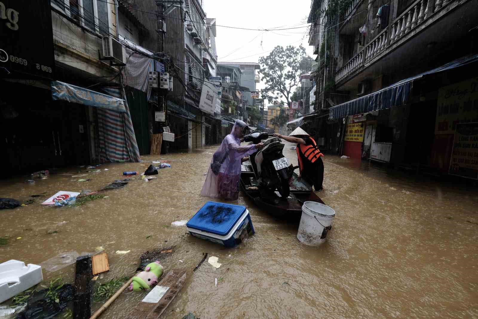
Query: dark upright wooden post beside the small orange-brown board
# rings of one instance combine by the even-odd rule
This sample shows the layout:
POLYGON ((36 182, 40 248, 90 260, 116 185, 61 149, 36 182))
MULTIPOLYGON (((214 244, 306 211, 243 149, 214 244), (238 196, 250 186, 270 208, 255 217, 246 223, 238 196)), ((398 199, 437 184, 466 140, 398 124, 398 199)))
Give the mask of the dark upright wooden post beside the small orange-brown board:
POLYGON ((93 295, 93 270, 90 256, 76 258, 75 297, 73 299, 73 318, 88 319, 91 316, 93 295))

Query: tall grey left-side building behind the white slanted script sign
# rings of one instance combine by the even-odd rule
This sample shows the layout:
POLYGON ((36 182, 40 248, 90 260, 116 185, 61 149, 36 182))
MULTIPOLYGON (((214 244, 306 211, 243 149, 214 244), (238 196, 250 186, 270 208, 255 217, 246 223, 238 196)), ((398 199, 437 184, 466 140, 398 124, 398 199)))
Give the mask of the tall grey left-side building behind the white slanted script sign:
POLYGON ((183 140, 174 141, 175 148, 215 144, 220 135, 218 114, 204 112, 199 104, 205 78, 217 75, 216 19, 206 18, 199 0, 177 1, 168 5, 164 15, 164 52, 174 64, 174 92, 167 96, 168 110, 174 111, 170 114, 176 131, 191 132, 183 140))

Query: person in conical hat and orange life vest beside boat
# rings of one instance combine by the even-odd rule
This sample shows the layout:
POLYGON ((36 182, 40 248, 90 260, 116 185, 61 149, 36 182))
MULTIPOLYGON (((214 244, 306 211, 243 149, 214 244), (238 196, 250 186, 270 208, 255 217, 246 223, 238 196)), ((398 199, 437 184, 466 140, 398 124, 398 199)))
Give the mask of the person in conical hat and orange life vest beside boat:
POLYGON ((297 161, 299 162, 299 179, 304 178, 308 183, 314 185, 315 191, 323 188, 324 182, 324 156, 317 147, 315 140, 310 137, 302 128, 297 127, 289 136, 274 134, 288 142, 296 143, 297 161))

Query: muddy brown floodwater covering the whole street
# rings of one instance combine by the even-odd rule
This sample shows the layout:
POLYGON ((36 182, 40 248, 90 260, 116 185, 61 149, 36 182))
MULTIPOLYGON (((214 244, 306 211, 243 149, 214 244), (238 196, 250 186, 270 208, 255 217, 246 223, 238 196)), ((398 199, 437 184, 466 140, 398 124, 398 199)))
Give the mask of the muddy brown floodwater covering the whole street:
MULTIPOLYGON (((291 146, 286 143, 284 153, 296 164, 291 146)), ((9 239, 0 246, 0 262, 38 264, 62 252, 103 246, 110 271, 101 282, 134 274, 143 251, 174 245, 172 256, 161 262, 166 271, 185 269, 187 280, 163 318, 179 319, 190 311, 202 319, 478 318, 476 188, 326 156, 324 190, 317 194, 336 217, 325 244, 301 244, 298 223, 276 220, 240 194, 236 204, 248 207, 256 234, 224 249, 185 235, 185 226, 171 226, 209 200, 199 192, 214 150, 144 156, 171 160, 172 168, 160 170, 156 180, 132 180, 104 193, 108 198, 73 208, 39 203, 59 190, 100 189, 122 179, 123 171, 144 171, 148 163, 104 164, 100 173, 81 177, 91 178, 88 182, 71 182, 62 174, 33 185, 25 177, 0 181, 0 197, 26 200, 46 192, 34 204, 0 211, 0 237, 9 239), (222 266, 206 261, 193 273, 206 251, 222 266)), ((43 276, 73 282, 74 272, 70 265, 43 270, 43 276)), ((123 293, 102 318, 123 318, 145 295, 123 293)))

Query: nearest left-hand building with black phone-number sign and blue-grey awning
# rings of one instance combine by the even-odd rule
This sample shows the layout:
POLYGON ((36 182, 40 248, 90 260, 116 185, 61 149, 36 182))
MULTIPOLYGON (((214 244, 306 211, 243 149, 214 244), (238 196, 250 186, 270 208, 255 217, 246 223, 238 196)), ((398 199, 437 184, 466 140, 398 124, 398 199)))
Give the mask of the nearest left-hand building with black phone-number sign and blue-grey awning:
POLYGON ((10 12, 8 23, 0 24, 2 52, 11 60, 2 58, 0 66, 9 92, 0 104, 12 113, 0 125, 8 171, 135 161, 149 153, 143 115, 158 34, 156 21, 138 12, 155 11, 155 4, 129 0, 139 9, 134 14, 118 0, 52 0, 47 6, 2 0, 1 6, 10 12))

